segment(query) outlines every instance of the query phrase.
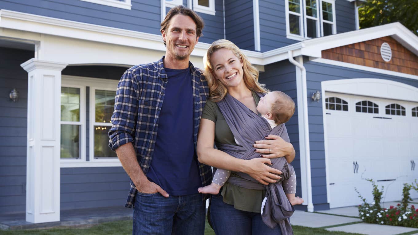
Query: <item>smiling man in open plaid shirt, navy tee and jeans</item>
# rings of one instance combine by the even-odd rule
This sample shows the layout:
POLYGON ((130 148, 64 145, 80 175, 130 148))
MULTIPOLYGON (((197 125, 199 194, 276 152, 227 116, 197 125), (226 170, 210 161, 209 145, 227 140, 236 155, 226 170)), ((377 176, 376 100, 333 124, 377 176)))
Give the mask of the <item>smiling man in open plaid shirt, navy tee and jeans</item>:
POLYGON ((133 234, 204 234, 206 195, 197 189, 212 170, 195 149, 209 89, 189 62, 203 26, 193 10, 171 8, 161 23, 166 55, 120 79, 109 146, 131 179, 133 234))

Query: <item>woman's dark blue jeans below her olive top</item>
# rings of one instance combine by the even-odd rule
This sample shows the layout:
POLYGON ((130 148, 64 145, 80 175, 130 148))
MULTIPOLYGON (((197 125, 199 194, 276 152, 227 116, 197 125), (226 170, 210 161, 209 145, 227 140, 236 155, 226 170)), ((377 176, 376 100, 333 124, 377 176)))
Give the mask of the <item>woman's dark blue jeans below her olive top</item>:
MULTIPOLYGON (((261 205, 260 205, 261 207, 261 205)), ((222 195, 212 195, 210 220, 217 235, 281 235, 280 227, 267 227, 260 213, 235 209, 223 201, 222 195)))

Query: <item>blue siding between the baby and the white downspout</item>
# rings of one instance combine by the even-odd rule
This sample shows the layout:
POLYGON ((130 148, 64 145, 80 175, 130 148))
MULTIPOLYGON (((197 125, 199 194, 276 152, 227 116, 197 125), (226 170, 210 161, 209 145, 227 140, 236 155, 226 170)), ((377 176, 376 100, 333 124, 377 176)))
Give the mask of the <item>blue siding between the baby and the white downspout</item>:
POLYGON ((296 105, 295 114, 285 124, 288 130, 289 138, 296 151, 295 160, 292 166, 295 169, 296 179, 296 195, 301 196, 301 163, 299 151, 299 127, 298 127, 298 109, 296 97, 296 69, 289 61, 280 61, 273 64, 268 64, 264 67, 265 72, 260 73, 260 83, 266 84, 266 88, 270 90, 279 90, 289 95, 296 105))

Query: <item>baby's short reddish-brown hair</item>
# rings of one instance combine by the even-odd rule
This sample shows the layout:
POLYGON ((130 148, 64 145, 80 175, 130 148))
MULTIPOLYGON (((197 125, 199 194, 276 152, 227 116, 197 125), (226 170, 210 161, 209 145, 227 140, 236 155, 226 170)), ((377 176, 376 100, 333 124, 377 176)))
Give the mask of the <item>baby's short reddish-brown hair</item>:
POLYGON ((277 99, 271 105, 271 114, 276 124, 287 122, 295 113, 295 102, 283 92, 273 91, 277 99))

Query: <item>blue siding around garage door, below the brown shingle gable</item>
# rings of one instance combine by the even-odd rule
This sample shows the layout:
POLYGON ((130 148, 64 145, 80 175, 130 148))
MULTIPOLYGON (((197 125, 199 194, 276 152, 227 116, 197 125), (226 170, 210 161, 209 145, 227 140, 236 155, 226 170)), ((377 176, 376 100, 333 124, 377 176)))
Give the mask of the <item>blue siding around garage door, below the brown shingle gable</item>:
MULTIPOLYGON (((336 1, 338 3, 339 1, 336 1)), ((342 1, 344 2, 344 1, 342 1)), ((308 94, 321 91, 321 82, 335 79, 378 78, 402 82, 418 87, 418 81, 357 69, 304 61, 308 94)), ((326 171, 324 147, 324 122, 322 103, 308 101, 309 139, 311 148, 312 197, 314 204, 326 203, 326 171)))

